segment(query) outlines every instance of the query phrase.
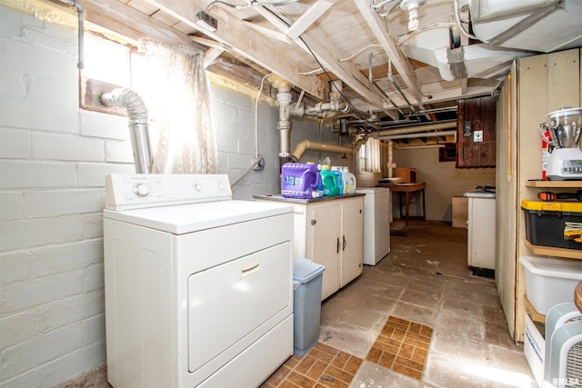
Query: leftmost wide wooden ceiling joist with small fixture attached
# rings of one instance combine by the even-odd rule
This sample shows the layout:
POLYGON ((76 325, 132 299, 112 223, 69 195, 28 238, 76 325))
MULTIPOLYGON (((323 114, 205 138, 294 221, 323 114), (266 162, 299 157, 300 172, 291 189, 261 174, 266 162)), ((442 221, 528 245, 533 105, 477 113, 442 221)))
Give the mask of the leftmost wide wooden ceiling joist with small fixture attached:
POLYGON ((316 75, 299 75, 310 69, 302 64, 297 64, 292 58, 287 58, 285 53, 276 50, 271 41, 255 30, 246 26, 246 22, 229 14, 224 9, 216 6, 212 9, 212 15, 218 20, 218 29, 215 32, 206 31, 196 25, 196 13, 206 8, 207 2, 196 0, 184 2, 181 0, 144 0, 150 5, 156 5, 169 15, 176 17, 182 23, 192 27, 216 41, 228 45, 239 55, 245 56, 250 61, 264 67, 269 72, 280 75, 292 85, 303 89, 316 100, 326 99, 327 85, 316 75))

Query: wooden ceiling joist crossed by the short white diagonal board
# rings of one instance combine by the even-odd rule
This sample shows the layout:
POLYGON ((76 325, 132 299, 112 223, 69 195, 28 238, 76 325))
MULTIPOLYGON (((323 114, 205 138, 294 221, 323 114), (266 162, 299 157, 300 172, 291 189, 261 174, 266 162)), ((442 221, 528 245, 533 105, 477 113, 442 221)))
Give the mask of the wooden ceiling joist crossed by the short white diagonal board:
MULTIPOLYGON (((256 7, 256 12, 266 18, 272 25, 275 25, 284 34, 287 33, 289 26, 281 21, 276 15, 273 15, 264 7, 256 7)), ((322 34, 316 31, 310 31, 308 34, 294 40, 296 45, 301 47, 309 55, 316 55, 317 60, 326 68, 327 71, 334 73, 344 84, 352 88, 358 95, 366 100, 376 109, 386 108, 386 101, 368 85, 369 81, 362 75, 356 65, 351 62, 339 62, 338 58, 345 55, 336 53, 335 46, 322 34)))

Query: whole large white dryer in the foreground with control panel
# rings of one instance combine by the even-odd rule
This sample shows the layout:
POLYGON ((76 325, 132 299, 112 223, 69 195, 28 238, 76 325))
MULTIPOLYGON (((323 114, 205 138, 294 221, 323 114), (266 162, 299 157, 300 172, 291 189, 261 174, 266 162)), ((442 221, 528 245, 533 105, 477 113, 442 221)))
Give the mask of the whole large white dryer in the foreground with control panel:
POLYGON ((222 174, 112 174, 105 199, 111 385, 256 386, 293 353, 291 205, 222 174))

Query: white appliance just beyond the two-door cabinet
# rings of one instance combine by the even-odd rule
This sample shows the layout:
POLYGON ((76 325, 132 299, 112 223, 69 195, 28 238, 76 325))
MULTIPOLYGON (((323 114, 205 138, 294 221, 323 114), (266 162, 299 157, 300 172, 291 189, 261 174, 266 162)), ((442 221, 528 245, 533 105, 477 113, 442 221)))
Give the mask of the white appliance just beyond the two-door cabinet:
POLYGON ((390 253, 390 190, 386 187, 361 187, 364 197, 364 259, 376 265, 390 253))

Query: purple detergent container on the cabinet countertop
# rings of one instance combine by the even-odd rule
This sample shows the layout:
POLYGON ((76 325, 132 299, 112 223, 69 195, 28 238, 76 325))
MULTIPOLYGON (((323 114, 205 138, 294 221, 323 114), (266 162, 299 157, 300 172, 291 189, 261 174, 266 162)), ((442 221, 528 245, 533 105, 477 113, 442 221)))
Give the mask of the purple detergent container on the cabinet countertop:
POLYGON ((286 163, 281 170, 281 195, 286 198, 318 198, 317 164, 286 163))

